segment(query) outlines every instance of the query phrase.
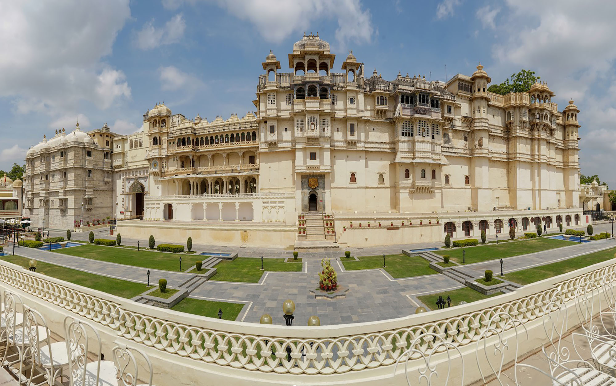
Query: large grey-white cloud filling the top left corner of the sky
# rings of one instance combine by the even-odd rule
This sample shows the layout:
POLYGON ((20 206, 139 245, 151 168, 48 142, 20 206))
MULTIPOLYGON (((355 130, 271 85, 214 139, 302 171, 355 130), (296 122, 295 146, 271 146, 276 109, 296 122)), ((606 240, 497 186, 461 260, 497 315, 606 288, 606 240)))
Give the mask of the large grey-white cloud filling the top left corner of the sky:
POLYGON ((82 101, 105 108, 130 96, 124 77, 110 77, 115 70, 102 62, 130 17, 128 0, 6 1, 1 8, 0 97, 17 113, 59 116, 82 101))

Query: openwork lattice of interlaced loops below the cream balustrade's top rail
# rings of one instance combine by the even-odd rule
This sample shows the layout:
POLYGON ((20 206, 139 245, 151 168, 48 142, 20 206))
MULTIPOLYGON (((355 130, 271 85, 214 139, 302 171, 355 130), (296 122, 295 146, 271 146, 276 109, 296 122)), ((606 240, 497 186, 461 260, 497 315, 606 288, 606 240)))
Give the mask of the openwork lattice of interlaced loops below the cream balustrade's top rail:
MULTIPOLYGON (((559 282, 553 287, 500 305, 448 319, 368 334, 323 338, 287 338, 216 331, 123 310, 110 300, 86 294, 0 264, 0 281, 60 306, 83 318, 107 326, 118 335, 158 350, 219 366, 286 374, 336 374, 395 364, 404 353, 410 359, 421 353, 463 347, 489 337, 503 327, 493 317, 505 313, 519 322, 543 316, 560 287, 559 298, 575 298, 575 289, 588 283, 601 287, 616 280, 616 265, 609 265, 559 282), (486 332, 487 331, 487 332, 486 332), (422 339, 429 334, 447 344, 422 339), (483 335, 482 335, 483 334, 483 335)), ((84 289, 86 290, 86 289, 84 289)), ((375 325, 378 328, 378 324, 375 325)))

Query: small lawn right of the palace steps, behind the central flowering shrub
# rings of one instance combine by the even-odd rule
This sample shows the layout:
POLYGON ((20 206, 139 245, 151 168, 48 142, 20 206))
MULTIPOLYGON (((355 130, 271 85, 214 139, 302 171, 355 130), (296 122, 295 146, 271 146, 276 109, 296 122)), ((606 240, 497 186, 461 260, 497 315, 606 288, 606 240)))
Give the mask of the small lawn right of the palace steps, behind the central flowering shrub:
MULTIPOLYGON (((354 271, 355 269, 383 268, 383 256, 362 256, 358 258, 359 261, 349 261, 343 258, 347 260, 342 260, 344 269, 347 271, 354 271)), ((429 267, 428 261, 424 258, 419 256, 408 257, 402 253, 400 253, 400 255, 386 255, 385 265, 385 270, 394 277, 394 279, 437 274, 434 269, 429 267)))

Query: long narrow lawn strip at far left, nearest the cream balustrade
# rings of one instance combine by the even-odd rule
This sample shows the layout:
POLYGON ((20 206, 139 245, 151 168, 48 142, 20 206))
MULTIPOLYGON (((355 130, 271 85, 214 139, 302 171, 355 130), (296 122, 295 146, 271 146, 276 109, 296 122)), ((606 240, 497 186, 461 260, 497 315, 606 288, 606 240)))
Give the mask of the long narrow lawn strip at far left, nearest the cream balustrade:
MULTIPOLYGON (((28 262, 30 261, 30 259, 20 256, 2 256, 0 258, 2 260, 9 261, 9 263, 14 263, 25 268, 28 267, 28 262)), ((147 287, 145 284, 113 279, 113 277, 99 276, 97 274, 87 273, 77 269, 45 263, 44 261, 37 261, 36 271, 38 273, 44 273, 47 276, 55 277, 74 284, 83 285, 84 287, 107 292, 107 294, 116 295, 123 298, 135 297, 152 288, 147 287)))

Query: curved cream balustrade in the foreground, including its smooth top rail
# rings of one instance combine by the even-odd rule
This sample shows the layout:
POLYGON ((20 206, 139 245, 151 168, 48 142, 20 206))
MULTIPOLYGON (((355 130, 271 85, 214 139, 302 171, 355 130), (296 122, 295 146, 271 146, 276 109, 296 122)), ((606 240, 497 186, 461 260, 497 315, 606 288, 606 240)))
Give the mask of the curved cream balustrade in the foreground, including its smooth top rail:
POLYGON ((507 313, 530 326, 543 316, 555 294, 562 302, 575 301, 581 286, 602 287, 615 280, 616 264, 604 261, 500 297, 438 312, 378 322, 285 328, 161 311, 0 261, 0 282, 107 326, 125 339, 217 366, 305 375, 377 369, 394 364, 409 350, 411 359, 420 359, 431 350, 431 340, 422 338, 434 334, 449 348, 468 347, 472 352, 471 345, 480 337, 500 333, 502 327, 490 325, 495 314, 507 313))

